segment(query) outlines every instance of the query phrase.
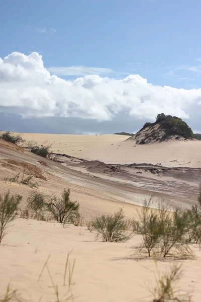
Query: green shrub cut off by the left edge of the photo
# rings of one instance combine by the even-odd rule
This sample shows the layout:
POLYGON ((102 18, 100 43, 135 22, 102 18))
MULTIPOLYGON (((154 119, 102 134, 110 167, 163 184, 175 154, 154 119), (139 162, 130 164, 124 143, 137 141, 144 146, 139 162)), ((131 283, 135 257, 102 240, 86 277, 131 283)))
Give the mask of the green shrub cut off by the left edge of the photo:
POLYGON ((22 196, 10 195, 9 191, 4 196, 0 195, 0 243, 10 222, 16 217, 21 200, 22 196))

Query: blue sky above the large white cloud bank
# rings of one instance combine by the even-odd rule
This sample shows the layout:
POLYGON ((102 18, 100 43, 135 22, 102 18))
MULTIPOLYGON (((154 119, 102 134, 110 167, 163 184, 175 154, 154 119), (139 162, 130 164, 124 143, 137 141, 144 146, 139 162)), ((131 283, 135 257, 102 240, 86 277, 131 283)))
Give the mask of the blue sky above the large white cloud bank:
MULTIPOLYGON (((2 0, 0 57, 38 52, 65 80, 139 74, 154 86, 199 90, 200 11, 199 0, 2 0)), ((179 108, 183 118, 197 111, 179 108)))

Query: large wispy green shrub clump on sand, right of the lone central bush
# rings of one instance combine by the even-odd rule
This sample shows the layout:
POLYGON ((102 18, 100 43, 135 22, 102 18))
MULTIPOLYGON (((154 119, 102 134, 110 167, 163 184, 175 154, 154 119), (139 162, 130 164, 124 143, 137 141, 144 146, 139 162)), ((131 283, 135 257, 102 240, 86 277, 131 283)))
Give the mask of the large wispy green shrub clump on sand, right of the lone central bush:
POLYGON ((149 257, 177 256, 180 258, 192 257, 192 252, 185 243, 186 220, 185 215, 178 209, 169 212, 163 203, 159 210, 150 208, 149 202, 144 202, 139 212, 138 234, 142 235, 140 251, 145 251, 149 257))

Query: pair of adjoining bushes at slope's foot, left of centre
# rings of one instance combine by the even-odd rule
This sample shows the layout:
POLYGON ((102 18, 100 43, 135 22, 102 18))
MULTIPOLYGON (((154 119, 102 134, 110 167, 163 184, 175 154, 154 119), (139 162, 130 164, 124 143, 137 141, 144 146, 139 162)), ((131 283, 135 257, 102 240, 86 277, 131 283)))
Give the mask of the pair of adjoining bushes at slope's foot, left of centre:
POLYGON ((72 223, 76 217, 80 217, 79 203, 71 201, 69 195, 70 189, 64 189, 60 199, 53 197, 48 202, 43 193, 34 191, 29 196, 27 209, 39 213, 45 210, 59 223, 72 223))

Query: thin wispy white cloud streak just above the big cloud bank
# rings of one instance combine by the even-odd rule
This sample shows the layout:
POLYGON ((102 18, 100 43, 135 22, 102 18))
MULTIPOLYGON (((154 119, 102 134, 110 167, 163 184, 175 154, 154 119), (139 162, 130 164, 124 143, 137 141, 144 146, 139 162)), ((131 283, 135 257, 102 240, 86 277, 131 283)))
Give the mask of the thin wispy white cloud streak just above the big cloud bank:
POLYGON ((48 70, 56 75, 87 75, 87 74, 110 74, 110 68, 71 66, 71 67, 50 67, 48 70))

